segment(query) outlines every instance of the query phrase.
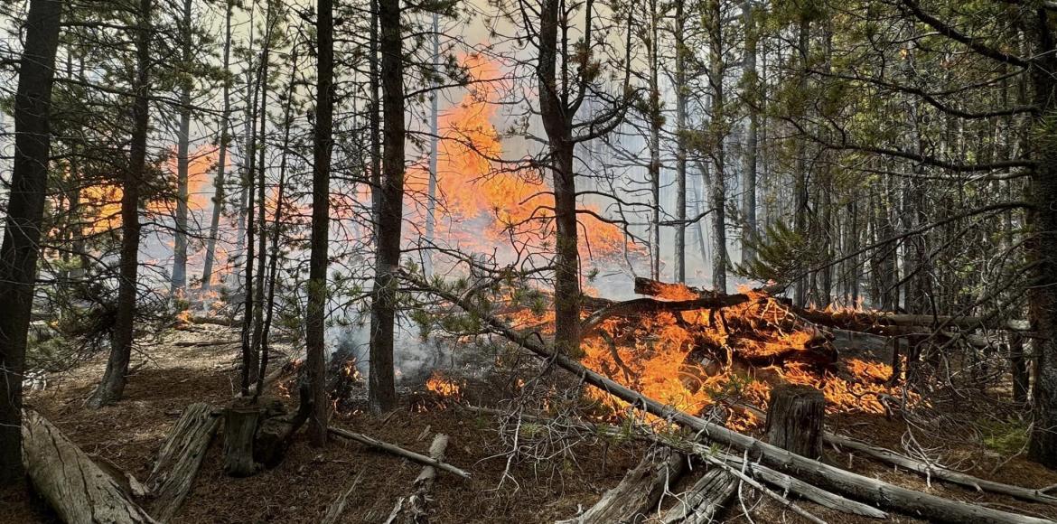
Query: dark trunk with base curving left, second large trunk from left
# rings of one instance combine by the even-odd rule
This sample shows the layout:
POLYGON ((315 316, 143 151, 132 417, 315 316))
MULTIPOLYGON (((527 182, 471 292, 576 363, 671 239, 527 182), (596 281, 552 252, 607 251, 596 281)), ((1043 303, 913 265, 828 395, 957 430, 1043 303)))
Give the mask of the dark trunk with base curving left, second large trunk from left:
POLYGON ((136 278, 140 269, 140 188, 147 174, 147 132, 150 124, 150 35, 153 0, 140 0, 136 13, 136 78, 132 92, 132 142, 122 194, 122 247, 117 284, 117 314, 110 358, 103 381, 89 406, 99 408, 120 399, 128 381, 135 328, 136 278))

